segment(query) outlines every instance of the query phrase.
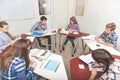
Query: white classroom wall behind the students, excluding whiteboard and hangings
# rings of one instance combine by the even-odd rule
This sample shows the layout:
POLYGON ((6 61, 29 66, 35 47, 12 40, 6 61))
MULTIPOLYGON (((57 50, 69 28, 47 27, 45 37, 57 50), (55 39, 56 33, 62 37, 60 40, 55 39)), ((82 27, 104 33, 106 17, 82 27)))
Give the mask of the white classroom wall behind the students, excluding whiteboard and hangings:
MULTIPOLYGON (((33 1, 34 18, 18 21, 7 21, 13 35, 29 32, 36 21, 39 21, 37 0, 33 1)), ((71 16, 75 15, 76 0, 52 0, 51 28, 66 27, 71 16)), ((83 16, 76 16, 82 32, 101 34, 105 25, 115 22, 116 32, 120 34, 120 0, 85 0, 83 16)), ((120 36, 120 35, 119 35, 120 36)))

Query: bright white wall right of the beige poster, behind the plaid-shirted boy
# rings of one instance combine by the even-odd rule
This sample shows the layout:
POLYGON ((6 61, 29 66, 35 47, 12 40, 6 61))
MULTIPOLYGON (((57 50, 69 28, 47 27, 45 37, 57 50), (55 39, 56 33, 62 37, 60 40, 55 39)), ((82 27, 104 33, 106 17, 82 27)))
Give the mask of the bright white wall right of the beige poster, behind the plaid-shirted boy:
POLYGON ((84 32, 101 34, 105 25, 115 22, 119 34, 120 30, 120 0, 87 0, 84 14, 84 32))

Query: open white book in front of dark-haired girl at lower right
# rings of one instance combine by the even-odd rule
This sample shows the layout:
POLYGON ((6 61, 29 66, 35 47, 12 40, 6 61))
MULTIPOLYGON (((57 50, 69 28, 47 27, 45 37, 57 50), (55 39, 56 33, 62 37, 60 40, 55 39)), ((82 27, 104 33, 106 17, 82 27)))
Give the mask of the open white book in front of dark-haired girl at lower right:
POLYGON ((88 55, 81 55, 78 57, 79 59, 81 59, 83 62, 85 62, 86 64, 88 64, 88 67, 89 67, 89 70, 93 70, 93 69, 96 69, 97 71, 101 71, 103 72, 104 68, 103 67, 96 67, 94 68, 94 65, 95 65, 95 61, 94 59, 92 58, 92 55, 91 54, 88 54, 88 55))

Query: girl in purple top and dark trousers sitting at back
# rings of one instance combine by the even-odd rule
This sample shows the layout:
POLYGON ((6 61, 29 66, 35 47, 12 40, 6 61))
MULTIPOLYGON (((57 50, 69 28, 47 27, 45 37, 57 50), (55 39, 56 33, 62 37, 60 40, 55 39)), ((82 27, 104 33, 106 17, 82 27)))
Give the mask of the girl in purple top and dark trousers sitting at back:
MULTIPOLYGON (((79 25, 78 25, 77 20, 76 20, 76 18, 74 16, 70 18, 70 23, 69 23, 69 25, 67 27, 67 30, 69 30, 69 33, 73 33, 75 31, 80 32, 79 25)), ((65 42, 64 42, 64 44, 62 46, 62 50, 65 50, 64 46, 67 44, 68 40, 71 41, 72 46, 74 48, 75 47, 75 44, 74 44, 74 41, 73 41, 74 39, 75 39, 74 37, 67 36, 66 40, 65 40, 65 42)), ((76 49, 75 49, 74 53, 75 52, 76 52, 76 49)))

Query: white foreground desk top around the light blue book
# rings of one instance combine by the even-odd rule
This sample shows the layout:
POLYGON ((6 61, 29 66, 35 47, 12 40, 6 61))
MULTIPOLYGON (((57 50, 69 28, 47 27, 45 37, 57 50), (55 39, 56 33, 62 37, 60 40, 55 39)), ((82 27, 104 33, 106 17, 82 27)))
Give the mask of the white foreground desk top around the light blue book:
POLYGON ((68 80, 62 56, 57 55, 55 53, 51 53, 47 59, 37 61, 37 64, 38 65, 35 67, 34 73, 48 80, 68 80), (51 71, 45 68, 50 60, 60 62, 56 71, 51 71))

